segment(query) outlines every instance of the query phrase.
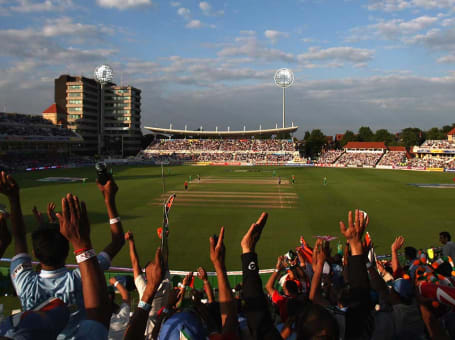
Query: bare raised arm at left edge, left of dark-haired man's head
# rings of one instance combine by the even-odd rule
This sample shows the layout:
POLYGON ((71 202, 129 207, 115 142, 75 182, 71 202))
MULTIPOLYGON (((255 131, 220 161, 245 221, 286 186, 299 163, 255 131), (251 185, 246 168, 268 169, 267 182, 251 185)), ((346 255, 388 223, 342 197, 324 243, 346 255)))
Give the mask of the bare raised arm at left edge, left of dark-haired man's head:
POLYGON ((15 254, 28 253, 27 239, 25 234, 24 217, 22 216, 22 208, 19 195, 19 186, 10 175, 4 171, 0 173, 0 192, 4 194, 10 203, 11 207, 11 225, 12 234, 14 237, 15 254))

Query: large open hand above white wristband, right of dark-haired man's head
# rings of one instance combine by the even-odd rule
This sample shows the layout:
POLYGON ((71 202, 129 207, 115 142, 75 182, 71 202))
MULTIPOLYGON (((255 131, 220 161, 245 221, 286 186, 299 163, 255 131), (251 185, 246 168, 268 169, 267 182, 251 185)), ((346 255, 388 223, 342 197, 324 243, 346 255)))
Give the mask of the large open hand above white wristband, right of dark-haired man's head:
POLYGON ((91 248, 90 223, 84 202, 77 196, 67 194, 62 198, 62 213, 57 213, 60 233, 71 242, 75 249, 91 248))

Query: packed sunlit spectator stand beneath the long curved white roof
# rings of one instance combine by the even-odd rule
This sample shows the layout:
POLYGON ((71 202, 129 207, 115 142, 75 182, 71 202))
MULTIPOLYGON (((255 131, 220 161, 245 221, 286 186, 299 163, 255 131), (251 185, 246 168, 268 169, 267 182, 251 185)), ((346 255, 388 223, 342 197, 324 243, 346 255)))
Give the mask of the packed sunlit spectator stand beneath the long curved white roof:
POLYGON ((286 163, 298 157, 290 140, 280 139, 162 139, 138 157, 154 161, 213 163, 286 163))

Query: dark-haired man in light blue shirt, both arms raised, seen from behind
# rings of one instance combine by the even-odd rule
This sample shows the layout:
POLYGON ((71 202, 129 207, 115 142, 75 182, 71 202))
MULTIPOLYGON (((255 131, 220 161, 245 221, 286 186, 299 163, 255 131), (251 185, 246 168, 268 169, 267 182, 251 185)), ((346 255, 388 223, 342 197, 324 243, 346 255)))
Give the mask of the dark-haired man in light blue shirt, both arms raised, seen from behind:
MULTIPOLYGON (((105 185, 98 183, 98 187, 104 197, 112 234, 111 243, 98 254, 100 267, 106 270, 125 240, 115 203, 117 185, 111 179, 105 185)), ((85 310, 81 273, 79 269, 69 271, 65 267, 69 252, 68 240, 60 234, 58 226, 33 232, 33 251, 42 268, 40 273, 35 272, 32 268, 32 259, 28 254, 19 186, 4 172, 0 174, 0 193, 7 196, 11 206, 12 234, 16 254, 11 261, 11 279, 23 310, 30 310, 49 297, 60 298, 69 306, 71 315, 67 327, 58 339, 74 337, 80 322, 85 319, 85 310)), ((84 250, 75 249, 75 253, 84 250)))

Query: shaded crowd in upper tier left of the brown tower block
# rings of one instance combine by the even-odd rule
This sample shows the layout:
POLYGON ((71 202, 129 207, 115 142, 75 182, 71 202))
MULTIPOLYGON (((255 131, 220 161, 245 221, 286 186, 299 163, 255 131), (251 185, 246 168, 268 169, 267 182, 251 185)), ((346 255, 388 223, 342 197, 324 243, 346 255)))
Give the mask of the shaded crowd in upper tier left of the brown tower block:
POLYGON ((75 137, 70 129, 34 115, 0 114, 0 136, 75 137))

